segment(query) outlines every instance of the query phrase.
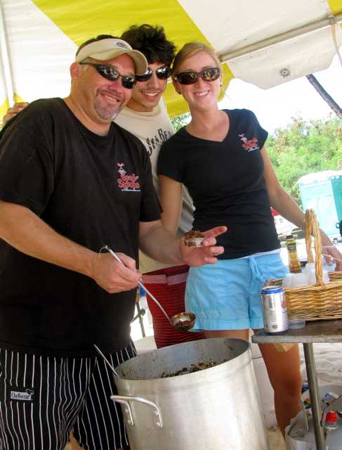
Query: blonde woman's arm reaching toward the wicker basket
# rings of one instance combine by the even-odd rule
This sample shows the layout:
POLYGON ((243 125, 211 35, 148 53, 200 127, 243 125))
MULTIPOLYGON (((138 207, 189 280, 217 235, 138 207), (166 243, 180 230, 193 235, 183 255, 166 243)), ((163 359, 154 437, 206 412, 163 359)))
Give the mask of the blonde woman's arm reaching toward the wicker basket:
MULTIPOLYGON (((292 224, 298 226, 303 231, 305 231, 305 214, 300 207, 296 204, 293 198, 284 191, 282 186, 280 186, 277 175, 275 174, 275 169, 273 169, 268 157, 266 147, 263 146, 261 149, 261 155, 263 155, 263 162, 265 165, 265 181, 268 188, 268 196, 270 198, 270 205, 275 209, 282 217, 290 221, 292 224)), ((322 238, 322 245, 333 245, 328 236, 324 231, 320 230, 320 236, 322 238)), ((331 257, 336 257, 342 259, 342 255, 338 252, 337 248, 326 248, 324 252, 331 255, 331 257)), ((332 266, 333 262, 330 257, 324 257, 329 266, 332 266)), ((342 271, 342 262, 336 260, 336 270, 342 271)))

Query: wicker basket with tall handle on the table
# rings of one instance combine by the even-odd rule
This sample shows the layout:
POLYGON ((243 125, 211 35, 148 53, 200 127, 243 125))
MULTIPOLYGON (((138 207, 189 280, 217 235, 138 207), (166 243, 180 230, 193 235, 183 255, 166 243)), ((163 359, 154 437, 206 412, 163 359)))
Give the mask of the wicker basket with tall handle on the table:
MULTIPOLYGON (((315 238, 316 285, 284 289, 289 317, 306 320, 342 319, 342 272, 329 272, 330 282, 323 283, 322 240, 320 224, 313 210, 305 213, 305 242, 308 262, 314 262, 311 250, 311 232, 315 238)), ((265 286, 279 285, 282 278, 265 281, 265 286)))

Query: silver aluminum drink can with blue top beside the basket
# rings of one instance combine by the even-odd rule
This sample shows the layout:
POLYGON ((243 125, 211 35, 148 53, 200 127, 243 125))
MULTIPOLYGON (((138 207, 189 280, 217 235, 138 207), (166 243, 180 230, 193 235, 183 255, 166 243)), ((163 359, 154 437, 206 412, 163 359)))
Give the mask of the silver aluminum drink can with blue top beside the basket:
POLYGON ((263 324, 271 334, 283 333, 289 329, 287 302, 282 286, 268 286, 261 290, 263 324))

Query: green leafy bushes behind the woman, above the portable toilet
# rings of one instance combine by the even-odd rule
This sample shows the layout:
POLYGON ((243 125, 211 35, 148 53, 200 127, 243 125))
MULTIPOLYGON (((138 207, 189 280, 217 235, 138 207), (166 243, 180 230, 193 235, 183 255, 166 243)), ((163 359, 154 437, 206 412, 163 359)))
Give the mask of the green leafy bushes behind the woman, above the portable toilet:
POLYGON ((292 117, 286 128, 268 137, 266 147, 280 184, 301 206, 301 176, 342 169, 342 122, 331 115, 309 121, 292 117))

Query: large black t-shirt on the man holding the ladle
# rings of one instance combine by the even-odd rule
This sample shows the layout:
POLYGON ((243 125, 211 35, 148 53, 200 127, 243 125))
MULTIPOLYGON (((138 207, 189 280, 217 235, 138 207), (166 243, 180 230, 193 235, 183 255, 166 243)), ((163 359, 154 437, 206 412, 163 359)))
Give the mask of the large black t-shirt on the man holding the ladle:
MULTIPOLYGON (((25 206, 61 235, 138 262, 139 221, 160 218, 150 159, 112 123, 84 127, 60 98, 31 103, 0 134, 0 200, 25 206)), ((130 340, 136 291, 109 294, 77 272, 0 240, 0 347, 43 356, 108 354, 130 340)))

